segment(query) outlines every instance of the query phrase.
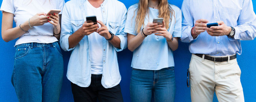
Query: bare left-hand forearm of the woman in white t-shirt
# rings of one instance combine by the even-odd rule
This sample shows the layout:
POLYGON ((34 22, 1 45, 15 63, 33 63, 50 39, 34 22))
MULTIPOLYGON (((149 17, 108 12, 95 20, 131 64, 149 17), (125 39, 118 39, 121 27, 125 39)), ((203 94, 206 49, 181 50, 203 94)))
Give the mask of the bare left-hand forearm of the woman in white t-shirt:
MULTIPOLYGON (((4 24, 2 24, 2 26, 5 26, 4 24)), ((3 27, 2 27, 3 28, 3 27)), ((29 27, 29 24, 28 24, 28 21, 26 21, 25 23, 21 24, 20 27, 19 25, 17 25, 15 28, 10 28, 10 29, 7 29, 7 30, 2 30, 2 38, 5 42, 9 42, 11 40, 14 40, 20 36, 22 36, 24 33, 26 33, 25 31, 23 30, 29 30, 30 27, 29 27)))

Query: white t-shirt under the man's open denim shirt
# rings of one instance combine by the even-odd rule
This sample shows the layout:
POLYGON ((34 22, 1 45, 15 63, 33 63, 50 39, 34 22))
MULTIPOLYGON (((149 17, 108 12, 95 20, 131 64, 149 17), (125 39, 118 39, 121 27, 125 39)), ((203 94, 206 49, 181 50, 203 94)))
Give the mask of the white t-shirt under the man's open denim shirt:
MULTIPOLYGON (((97 20, 102 21, 101 7, 95 8, 86 0, 88 16, 96 16, 97 20)), ((98 23, 99 28, 101 25, 98 23)), ((91 56, 91 74, 102 74, 103 64, 103 39, 97 32, 90 34, 90 56, 91 56)))

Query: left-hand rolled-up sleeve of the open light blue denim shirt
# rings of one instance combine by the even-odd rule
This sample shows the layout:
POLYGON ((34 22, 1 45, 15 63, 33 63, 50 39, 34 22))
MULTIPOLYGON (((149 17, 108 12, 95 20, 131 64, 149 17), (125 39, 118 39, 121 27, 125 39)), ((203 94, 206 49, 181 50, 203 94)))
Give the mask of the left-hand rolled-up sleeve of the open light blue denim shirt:
POLYGON ((70 16, 68 12, 68 5, 65 4, 61 16, 61 33, 60 33, 60 46, 64 51, 71 51, 74 48, 69 48, 68 37, 73 34, 70 16))

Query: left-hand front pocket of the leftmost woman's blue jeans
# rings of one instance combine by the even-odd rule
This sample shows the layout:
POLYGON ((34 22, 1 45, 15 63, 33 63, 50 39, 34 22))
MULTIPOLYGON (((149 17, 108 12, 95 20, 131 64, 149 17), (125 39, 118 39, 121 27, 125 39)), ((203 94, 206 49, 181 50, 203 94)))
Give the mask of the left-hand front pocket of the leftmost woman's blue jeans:
POLYGON ((26 45, 16 47, 15 59, 25 57, 30 52, 30 50, 30 46, 26 45))

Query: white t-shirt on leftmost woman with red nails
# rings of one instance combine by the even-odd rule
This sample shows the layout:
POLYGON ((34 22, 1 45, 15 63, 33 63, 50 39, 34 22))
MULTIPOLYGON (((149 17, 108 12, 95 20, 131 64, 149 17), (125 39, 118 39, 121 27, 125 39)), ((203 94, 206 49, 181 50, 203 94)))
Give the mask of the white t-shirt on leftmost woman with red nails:
MULTIPOLYGON (((0 11, 14 14, 16 26, 19 26, 37 13, 47 13, 51 9, 62 10, 64 4, 64 0, 3 0, 0 11)), ((53 30, 53 25, 50 23, 34 26, 19 37, 15 46, 29 42, 52 43, 58 41, 53 36, 53 30)))

